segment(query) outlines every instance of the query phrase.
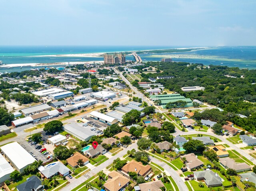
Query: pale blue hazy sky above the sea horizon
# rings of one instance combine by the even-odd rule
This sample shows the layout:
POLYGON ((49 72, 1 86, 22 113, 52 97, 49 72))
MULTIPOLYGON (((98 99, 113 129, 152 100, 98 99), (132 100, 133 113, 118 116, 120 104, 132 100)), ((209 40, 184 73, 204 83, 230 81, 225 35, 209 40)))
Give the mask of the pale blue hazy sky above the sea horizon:
POLYGON ((0 0, 0 45, 256 45, 255 0, 0 0))

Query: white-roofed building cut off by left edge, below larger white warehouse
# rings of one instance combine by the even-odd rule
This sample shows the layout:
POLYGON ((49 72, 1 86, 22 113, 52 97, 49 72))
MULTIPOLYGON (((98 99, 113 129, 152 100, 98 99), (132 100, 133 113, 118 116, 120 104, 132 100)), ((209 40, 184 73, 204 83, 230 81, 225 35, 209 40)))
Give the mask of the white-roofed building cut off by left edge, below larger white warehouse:
POLYGON ((8 161, 0 154, 0 183, 9 180, 10 174, 14 171, 8 161))

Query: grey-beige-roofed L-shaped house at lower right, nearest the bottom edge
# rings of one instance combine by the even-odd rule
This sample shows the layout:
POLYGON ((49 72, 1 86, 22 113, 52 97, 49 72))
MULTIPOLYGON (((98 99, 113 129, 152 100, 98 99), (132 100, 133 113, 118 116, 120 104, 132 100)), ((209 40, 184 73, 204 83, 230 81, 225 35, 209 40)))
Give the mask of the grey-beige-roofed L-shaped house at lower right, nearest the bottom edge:
POLYGON ((196 171, 194 177, 196 180, 204 180, 208 187, 222 186, 221 177, 212 170, 196 171))

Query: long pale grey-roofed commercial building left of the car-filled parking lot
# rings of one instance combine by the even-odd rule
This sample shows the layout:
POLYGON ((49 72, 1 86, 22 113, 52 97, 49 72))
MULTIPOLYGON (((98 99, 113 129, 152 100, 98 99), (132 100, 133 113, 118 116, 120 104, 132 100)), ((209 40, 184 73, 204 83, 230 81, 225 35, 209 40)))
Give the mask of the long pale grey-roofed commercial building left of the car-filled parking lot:
POLYGON ((94 136, 89 127, 78 126, 76 124, 66 124, 64 125, 64 130, 81 141, 88 142, 94 136))

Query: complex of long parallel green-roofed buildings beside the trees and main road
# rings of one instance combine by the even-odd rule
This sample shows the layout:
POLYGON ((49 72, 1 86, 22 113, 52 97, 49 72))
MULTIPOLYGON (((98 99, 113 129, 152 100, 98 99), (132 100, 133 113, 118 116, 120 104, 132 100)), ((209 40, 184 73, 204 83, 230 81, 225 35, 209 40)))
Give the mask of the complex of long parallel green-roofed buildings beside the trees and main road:
MULTIPOLYGON (((166 108, 166 104, 173 103, 177 101, 185 101, 186 105, 182 107, 192 107, 193 102, 190 98, 185 98, 184 96, 181 96, 180 94, 165 94, 165 95, 150 95, 150 100, 156 101, 160 100, 160 105, 162 108, 166 108)), ((181 106, 180 106, 181 107, 181 106)))

